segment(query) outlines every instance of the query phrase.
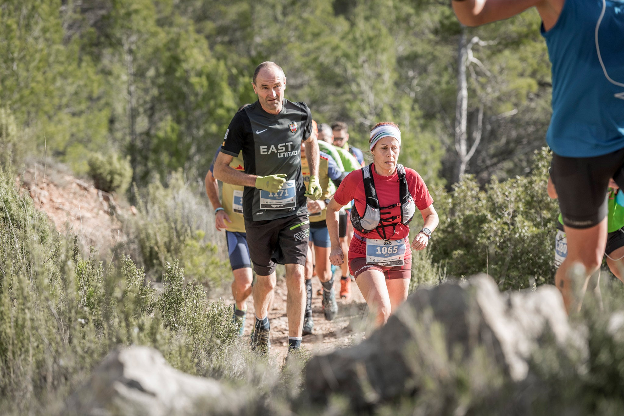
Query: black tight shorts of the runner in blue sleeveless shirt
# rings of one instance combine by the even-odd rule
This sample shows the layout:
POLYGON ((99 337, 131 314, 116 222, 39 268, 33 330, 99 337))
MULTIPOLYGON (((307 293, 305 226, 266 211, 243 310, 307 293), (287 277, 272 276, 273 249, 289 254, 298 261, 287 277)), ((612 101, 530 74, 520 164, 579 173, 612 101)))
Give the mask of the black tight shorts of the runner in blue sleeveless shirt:
POLYGON ((624 148, 596 157, 562 157, 553 153, 550 176, 555 184, 563 223, 590 228, 607 216, 609 179, 624 188, 624 148))

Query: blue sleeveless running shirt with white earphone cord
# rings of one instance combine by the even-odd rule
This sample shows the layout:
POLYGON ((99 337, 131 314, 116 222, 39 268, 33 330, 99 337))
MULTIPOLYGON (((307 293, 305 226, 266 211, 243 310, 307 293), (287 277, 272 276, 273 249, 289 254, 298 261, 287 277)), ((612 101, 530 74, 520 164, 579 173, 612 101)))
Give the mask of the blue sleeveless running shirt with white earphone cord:
POLYGON ((624 0, 565 0, 541 32, 552 62, 550 148, 563 157, 624 148, 624 0))

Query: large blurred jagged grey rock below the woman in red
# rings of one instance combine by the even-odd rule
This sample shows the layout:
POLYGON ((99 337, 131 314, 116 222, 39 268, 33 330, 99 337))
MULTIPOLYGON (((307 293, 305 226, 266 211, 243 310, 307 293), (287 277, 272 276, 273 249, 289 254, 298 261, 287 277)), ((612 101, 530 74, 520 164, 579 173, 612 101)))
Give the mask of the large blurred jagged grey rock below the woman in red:
POLYGON ((349 397, 354 409, 416 395, 449 362, 485 349, 510 380, 527 377, 531 354, 545 339, 582 347, 554 286, 500 293, 485 274, 461 283, 418 289, 388 323, 357 346, 317 356, 306 367, 305 395, 325 404, 349 397))

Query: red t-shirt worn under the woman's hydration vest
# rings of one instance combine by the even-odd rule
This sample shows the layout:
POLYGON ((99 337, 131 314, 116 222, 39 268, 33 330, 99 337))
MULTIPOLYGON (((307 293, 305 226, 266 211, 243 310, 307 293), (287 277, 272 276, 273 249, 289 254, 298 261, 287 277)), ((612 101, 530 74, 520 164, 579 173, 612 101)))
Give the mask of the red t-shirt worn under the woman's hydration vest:
MULTIPOLYGON (((414 198, 416 208, 424 210, 433 203, 433 198, 429 195, 427 185, 415 170, 405 168, 405 177, 407 180, 407 188, 409 193, 414 198)), ((379 206, 390 206, 400 201, 399 199, 399 173, 394 172, 394 175, 384 177, 378 175, 373 169, 373 181, 375 183, 375 191, 377 192, 377 198, 379 200, 379 206)), ((338 190, 334 193, 334 200, 340 205, 346 205, 349 201, 354 200, 353 209, 358 210, 361 215, 366 208, 366 194, 364 193, 364 178, 361 170, 354 170, 349 173, 346 178, 340 183, 338 190)), ((401 206, 394 206, 390 210, 382 210, 381 218, 389 218, 390 216, 401 215, 401 206)), ((417 213, 415 214, 417 215, 417 213)), ((409 226, 399 223, 394 229, 394 235, 392 235, 392 225, 384 226, 386 231, 386 239, 403 239, 409 235, 409 226)), ((383 239, 383 233, 379 233, 379 229, 370 231, 369 233, 360 233, 358 230, 354 230, 354 233, 364 238, 378 238, 383 239)), ((408 241, 409 243, 409 241, 408 241)), ((407 256, 411 256, 411 250, 408 250, 407 256)), ((358 238, 351 240, 351 246, 349 247, 349 258, 366 257, 366 241, 361 241, 358 238), (354 251, 353 253, 351 253, 354 251), (356 255, 353 255, 356 254, 356 255), (361 254, 361 255, 358 255, 361 254)))

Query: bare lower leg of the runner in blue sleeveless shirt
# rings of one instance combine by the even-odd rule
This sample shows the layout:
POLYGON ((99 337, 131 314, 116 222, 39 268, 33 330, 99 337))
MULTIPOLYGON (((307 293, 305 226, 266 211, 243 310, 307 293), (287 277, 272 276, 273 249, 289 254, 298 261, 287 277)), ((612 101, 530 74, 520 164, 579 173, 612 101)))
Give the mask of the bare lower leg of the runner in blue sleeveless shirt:
POLYGON ((563 297, 568 314, 580 311, 590 276, 598 270, 607 245, 607 218, 590 228, 564 226, 568 240, 568 254, 555 275, 555 284, 563 297), (582 281, 573 282, 572 266, 580 264, 582 281), (577 293, 575 293, 575 291, 577 293))

